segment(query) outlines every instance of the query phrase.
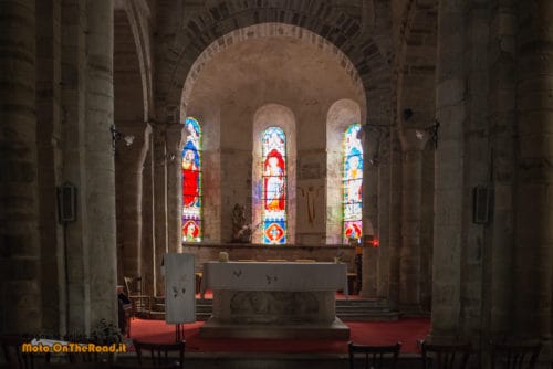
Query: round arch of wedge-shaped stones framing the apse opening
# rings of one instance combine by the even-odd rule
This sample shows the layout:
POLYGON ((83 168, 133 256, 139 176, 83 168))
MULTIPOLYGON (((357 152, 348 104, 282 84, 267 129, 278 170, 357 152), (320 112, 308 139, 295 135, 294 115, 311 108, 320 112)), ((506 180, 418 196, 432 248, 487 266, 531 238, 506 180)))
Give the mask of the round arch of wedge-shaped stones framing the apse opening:
MULTIPOLYGON (((362 14, 366 7, 358 9, 362 14)), ((327 40, 352 62, 365 87, 368 119, 389 124, 390 60, 389 4, 375 4, 375 17, 354 18, 322 1, 274 1, 271 4, 252 1, 221 1, 188 19, 167 45, 170 57, 159 60, 160 75, 156 103, 158 119, 175 122, 178 117, 182 86, 192 64, 200 54, 225 34, 261 23, 283 23, 309 30, 327 40), (375 18, 373 32, 366 19, 375 18), (371 33, 371 34, 367 34, 371 33)), ((213 46, 216 48, 216 46, 213 46)))

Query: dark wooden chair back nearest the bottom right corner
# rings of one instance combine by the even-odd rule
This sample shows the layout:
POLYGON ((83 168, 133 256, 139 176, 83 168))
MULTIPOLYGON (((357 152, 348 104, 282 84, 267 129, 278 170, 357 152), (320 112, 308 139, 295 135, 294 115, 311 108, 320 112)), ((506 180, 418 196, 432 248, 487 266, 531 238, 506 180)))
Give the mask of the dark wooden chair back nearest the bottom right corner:
POLYGON ((542 344, 491 344, 491 368, 533 369, 542 344))

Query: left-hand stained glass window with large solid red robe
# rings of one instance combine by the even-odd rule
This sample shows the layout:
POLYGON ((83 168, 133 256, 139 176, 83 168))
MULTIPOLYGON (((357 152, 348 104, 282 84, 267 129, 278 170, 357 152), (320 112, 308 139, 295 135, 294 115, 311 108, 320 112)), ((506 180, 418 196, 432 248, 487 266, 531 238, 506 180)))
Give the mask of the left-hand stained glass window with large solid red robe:
POLYGON ((200 242, 201 224, 201 128, 195 118, 185 122, 182 160, 182 241, 200 242))

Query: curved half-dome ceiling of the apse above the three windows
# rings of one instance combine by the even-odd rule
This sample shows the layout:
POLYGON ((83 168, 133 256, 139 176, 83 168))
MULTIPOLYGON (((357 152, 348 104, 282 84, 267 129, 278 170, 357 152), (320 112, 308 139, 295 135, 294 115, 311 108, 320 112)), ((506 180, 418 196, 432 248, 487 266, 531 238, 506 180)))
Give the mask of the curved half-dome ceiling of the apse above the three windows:
MULTIPOLYGON (((188 85, 188 84, 187 84, 188 85)), ((364 89, 336 54, 292 36, 252 38, 215 53, 188 85, 186 114, 202 104, 278 103, 327 108, 341 98, 365 110, 364 89)), ((257 106, 255 106, 257 104, 257 106)))

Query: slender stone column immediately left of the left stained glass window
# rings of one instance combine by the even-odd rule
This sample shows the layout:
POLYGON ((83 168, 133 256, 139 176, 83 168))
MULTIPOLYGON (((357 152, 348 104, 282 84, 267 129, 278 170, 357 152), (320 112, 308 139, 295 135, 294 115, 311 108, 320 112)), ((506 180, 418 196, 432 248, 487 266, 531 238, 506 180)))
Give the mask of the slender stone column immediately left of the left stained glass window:
POLYGON ((181 124, 167 125, 167 245, 169 252, 182 251, 182 166, 181 124))

